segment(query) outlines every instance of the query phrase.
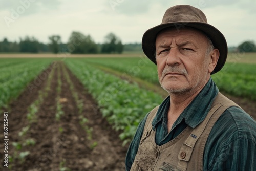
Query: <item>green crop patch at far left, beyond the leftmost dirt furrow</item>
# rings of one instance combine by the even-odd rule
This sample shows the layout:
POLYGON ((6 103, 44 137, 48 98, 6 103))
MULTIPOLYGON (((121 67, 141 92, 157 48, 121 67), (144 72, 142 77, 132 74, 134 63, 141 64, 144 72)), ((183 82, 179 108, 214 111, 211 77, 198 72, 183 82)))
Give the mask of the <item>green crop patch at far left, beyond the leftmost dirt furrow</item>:
MULTIPOLYGON (((0 59, 5 63, 0 69, 0 108, 16 98, 28 83, 50 65, 51 59, 0 59), (8 66, 8 67, 6 67, 8 66)), ((38 85, 36 85, 38 86, 38 85)))

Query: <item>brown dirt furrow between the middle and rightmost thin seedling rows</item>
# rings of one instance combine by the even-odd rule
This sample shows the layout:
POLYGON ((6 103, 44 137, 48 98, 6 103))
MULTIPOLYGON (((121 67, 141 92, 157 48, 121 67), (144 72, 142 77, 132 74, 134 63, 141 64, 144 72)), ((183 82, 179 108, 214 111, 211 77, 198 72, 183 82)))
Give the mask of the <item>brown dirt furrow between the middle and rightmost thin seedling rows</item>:
MULTIPOLYGON (((58 159, 58 163, 54 163, 52 170, 57 169, 71 169, 71 170, 85 170, 86 163, 83 162, 83 158, 90 157, 90 148, 86 142, 86 132, 79 124, 78 108, 75 99, 72 96, 72 90, 70 85, 63 74, 63 65, 59 63, 61 67, 61 93, 60 103, 63 114, 59 121, 56 121, 58 130, 55 132, 55 137, 61 137, 62 144, 58 153, 56 153, 55 160, 58 159)), ((56 138, 58 139, 58 138, 56 138)), ((55 143, 56 144, 56 143, 55 143)))

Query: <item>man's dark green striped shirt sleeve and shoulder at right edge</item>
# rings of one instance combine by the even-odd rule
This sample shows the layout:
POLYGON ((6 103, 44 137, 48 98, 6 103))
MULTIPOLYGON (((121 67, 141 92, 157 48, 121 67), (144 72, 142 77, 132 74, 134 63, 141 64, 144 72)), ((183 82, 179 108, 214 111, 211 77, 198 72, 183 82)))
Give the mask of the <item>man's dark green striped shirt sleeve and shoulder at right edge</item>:
POLYGON ((255 154, 255 130, 255 120, 243 109, 238 106, 226 109, 208 136, 204 148, 204 169, 250 168, 253 162, 246 158, 255 154))

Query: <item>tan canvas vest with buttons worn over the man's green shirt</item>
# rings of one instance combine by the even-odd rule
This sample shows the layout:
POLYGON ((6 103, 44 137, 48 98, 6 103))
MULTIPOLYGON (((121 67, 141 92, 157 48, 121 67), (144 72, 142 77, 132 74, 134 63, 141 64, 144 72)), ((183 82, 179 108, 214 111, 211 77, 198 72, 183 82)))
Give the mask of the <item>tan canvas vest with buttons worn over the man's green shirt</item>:
POLYGON ((208 135, 230 106, 238 105, 219 93, 206 118, 195 129, 187 126, 176 138, 161 146, 156 145, 155 131, 152 129, 157 106, 147 117, 131 170, 203 170, 203 153, 208 135))

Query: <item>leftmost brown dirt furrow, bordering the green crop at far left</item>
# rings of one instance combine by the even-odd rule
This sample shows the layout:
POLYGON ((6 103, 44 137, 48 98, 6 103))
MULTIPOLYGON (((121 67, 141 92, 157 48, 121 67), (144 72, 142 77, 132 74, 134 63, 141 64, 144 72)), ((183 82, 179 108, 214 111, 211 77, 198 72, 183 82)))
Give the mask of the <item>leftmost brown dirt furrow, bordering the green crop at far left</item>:
MULTIPOLYGON (((27 119, 27 114, 29 112, 30 105, 38 99, 39 91, 42 91, 46 87, 47 78, 53 70, 53 65, 41 72, 32 82, 27 85, 27 88, 24 90, 20 96, 12 101, 9 104, 8 109, 4 109, 9 113, 8 115, 8 134, 9 134, 9 143, 8 143, 8 155, 12 159, 9 159, 8 168, 3 167, 1 164, 0 170, 24 170, 23 165, 26 161, 20 155, 20 152, 26 151, 27 147, 23 147, 26 143, 25 129, 29 128, 29 122, 27 119), (21 132, 24 132, 24 136, 20 136, 21 132), (20 144, 19 146, 14 146, 14 144, 20 144)), ((1 122, 2 124, 2 122, 1 122)), ((2 127, 2 126, 1 126, 2 127)), ((30 128, 29 128, 30 130, 30 128)), ((33 136, 33 130, 31 130, 31 136, 33 136)), ((37 133, 36 133, 37 134, 37 133)), ((1 134, 2 135, 2 134, 1 134)), ((2 139, 2 138, 1 138, 2 139)), ((2 149, 2 143, 0 144, 2 149)), ((0 152, 2 156, 2 151, 0 152)), ((29 161, 29 159, 28 159, 29 161)), ((33 159, 30 160, 33 163, 33 159)), ((28 164, 28 163, 27 163, 28 164)))

